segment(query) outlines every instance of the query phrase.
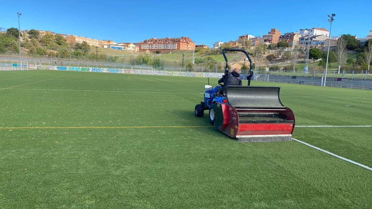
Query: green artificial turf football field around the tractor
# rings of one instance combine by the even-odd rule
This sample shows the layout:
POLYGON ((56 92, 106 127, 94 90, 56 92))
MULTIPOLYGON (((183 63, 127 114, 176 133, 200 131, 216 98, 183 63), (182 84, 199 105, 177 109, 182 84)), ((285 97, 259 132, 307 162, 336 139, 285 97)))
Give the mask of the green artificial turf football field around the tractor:
MULTIPOLYGON (((0 207, 371 208, 371 170, 296 141, 239 143, 207 111, 196 118, 206 83, 0 72, 0 207)), ((251 85, 281 86, 298 126, 372 125, 369 90, 251 85)), ((372 167, 371 135, 372 127, 297 127, 293 137, 372 167)))

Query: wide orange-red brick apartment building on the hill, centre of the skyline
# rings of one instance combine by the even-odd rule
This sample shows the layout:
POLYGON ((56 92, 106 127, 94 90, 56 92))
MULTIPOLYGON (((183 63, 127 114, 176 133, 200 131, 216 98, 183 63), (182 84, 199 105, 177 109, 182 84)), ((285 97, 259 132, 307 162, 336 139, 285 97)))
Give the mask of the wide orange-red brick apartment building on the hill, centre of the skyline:
POLYGON ((189 37, 181 38, 151 38, 138 44, 140 51, 169 51, 173 50, 195 50, 195 42, 189 37))

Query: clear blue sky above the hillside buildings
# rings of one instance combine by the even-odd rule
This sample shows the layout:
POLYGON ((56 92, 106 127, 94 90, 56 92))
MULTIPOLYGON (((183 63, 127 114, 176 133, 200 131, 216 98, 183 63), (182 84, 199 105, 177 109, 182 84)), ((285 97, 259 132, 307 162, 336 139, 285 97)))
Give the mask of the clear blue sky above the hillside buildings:
POLYGON ((365 37, 372 30, 372 0, 358 1, 9 1, 0 0, 0 27, 52 30, 116 42, 189 36, 197 44, 262 36, 271 28, 282 33, 327 28, 331 35, 365 37))

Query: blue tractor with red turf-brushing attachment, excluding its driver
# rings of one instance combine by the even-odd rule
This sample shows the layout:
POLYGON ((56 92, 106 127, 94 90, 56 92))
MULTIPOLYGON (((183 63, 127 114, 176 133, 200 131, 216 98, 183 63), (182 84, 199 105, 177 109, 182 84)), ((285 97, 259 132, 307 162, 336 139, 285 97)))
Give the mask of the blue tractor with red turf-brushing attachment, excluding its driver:
POLYGON ((209 110, 209 122, 239 142, 291 141, 295 115, 280 102, 280 87, 250 86, 252 61, 242 49, 222 50, 224 84, 229 73, 225 51, 246 54, 250 62, 248 86, 205 85, 204 101, 195 106, 195 116, 203 117, 204 110, 209 110))

